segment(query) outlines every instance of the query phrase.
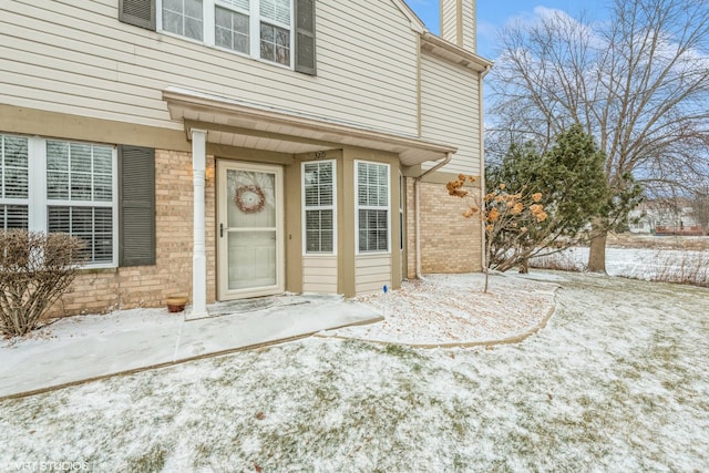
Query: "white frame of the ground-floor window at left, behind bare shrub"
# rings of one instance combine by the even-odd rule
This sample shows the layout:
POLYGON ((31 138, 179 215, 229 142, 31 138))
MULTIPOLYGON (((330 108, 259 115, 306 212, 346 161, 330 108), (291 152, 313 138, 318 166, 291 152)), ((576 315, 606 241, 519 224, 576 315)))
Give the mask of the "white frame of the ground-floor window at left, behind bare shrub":
MULTIPOLYGON (((47 138, 42 136, 22 136, 2 133, 6 136, 21 136, 28 140, 28 229, 30 232, 43 232, 49 229, 49 206, 59 207, 111 207, 112 208, 112 244, 113 258, 111 261, 86 263, 86 268, 114 268, 119 266, 119 166, 116 146, 102 143, 78 142, 74 140, 47 138), (49 199, 47 196, 47 142, 56 141, 62 143, 81 143, 100 146, 111 146, 111 173, 112 193, 111 202, 95 200, 60 200, 49 199)), ((0 199, 0 204, 6 199, 0 199)), ((17 200, 16 200, 17 202, 17 200)), ((8 202, 8 204, 11 204, 8 202)))

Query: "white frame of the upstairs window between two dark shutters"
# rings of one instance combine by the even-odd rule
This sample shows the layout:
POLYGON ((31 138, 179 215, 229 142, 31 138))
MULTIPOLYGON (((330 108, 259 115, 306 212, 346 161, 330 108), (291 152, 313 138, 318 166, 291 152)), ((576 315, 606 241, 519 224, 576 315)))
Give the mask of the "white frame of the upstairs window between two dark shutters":
POLYGON ((171 31, 166 31, 163 29, 163 0, 157 0, 156 1, 156 6, 155 6, 155 16, 156 16, 156 23, 157 23, 157 31, 160 31, 163 34, 167 34, 174 38, 179 38, 183 39, 185 41, 192 41, 198 44, 206 44, 210 48, 215 48, 218 49, 219 51, 226 51, 233 54, 237 54, 244 58, 250 58, 254 59, 256 61, 260 61, 264 62, 266 64, 271 64, 271 65, 276 65, 276 66, 280 66, 280 68, 286 68, 286 69, 290 69, 294 70, 295 69, 295 53, 296 53, 296 49, 295 49, 295 41, 296 41, 296 18, 295 18, 295 6, 294 6, 294 0, 289 0, 289 4, 290 4, 290 24, 285 24, 285 23, 280 23, 278 21, 274 21, 274 20, 269 20, 269 19, 261 19, 260 16, 260 0, 249 0, 249 12, 248 12, 248 18, 249 18, 249 53, 243 53, 239 51, 235 51, 233 49, 229 48, 223 48, 223 47, 218 47, 216 45, 216 39, 215 39, 215 31, 216 31, 216 21, 215 21, 215 14, 216 14, 216 7, 223 7, 226 8, 228 10, 232 11, 236 11, 239 13, 246 13, 244 10, 235 8, 234 6, 229 6, 227 3, 224 3, 219 0, 202 0, 202 24, 204 25, 204 31, 202 33, 202 38, 203 41, 199 40, 195 40, 193 38, 188 38, 188 37, 184 37, 182 34, 177 34, 177 33, 173 33, 171 31), (264 21, 265 23, 268 24, 273 24, 279 28, 284 28, 287 29, 289 31, 290 34, 290 64, 286 65, 286 64, 281 64, 279 62, 275 62, 275 61, 269 61, 266 59, 261 59, 261 54, 260 54, 260 23, 261 21, 264 21))

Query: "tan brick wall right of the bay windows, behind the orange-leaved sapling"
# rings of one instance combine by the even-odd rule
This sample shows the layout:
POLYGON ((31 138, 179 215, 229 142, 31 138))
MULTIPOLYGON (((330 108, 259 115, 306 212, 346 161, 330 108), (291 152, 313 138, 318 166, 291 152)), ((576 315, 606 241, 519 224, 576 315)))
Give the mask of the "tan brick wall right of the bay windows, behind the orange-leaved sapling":
MULTIPOLYGON (((407 179, 407 267, 415 277, 415 202, 413 178, 407 179)), ((421 270, 473 273, 482 270, 481 223, 464 218, 465 203, 448 195, 445 184, 421 183, 421 270)))

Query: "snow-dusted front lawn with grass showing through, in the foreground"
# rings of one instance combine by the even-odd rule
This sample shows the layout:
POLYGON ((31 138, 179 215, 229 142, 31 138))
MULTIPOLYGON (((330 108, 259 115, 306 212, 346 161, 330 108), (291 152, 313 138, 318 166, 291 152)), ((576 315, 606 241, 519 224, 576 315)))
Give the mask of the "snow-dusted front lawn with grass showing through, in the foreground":
POLYGON ((516 345, 310 338, 2 401, 0 470, 706 471, 709 290, 559 279, 516 345))

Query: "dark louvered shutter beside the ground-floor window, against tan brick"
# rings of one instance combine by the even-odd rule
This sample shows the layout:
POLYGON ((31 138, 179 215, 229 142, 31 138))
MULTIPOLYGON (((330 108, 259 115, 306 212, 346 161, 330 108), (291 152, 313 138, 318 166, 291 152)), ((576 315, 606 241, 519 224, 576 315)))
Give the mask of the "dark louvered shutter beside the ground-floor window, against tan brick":
POLYGON ((119 146, 119 266, 155 265, 155 150, 119 146))

